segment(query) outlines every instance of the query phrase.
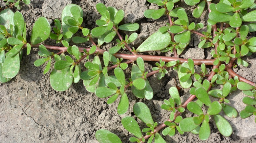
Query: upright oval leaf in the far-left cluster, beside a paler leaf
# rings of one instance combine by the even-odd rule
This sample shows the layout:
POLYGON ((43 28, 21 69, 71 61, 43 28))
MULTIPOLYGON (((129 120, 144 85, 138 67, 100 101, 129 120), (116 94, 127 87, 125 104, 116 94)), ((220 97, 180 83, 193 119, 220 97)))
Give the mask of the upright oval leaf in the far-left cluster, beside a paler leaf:
POLYGON ((16 37, 18 35, 22 35, 25 27, 25 22, 24 22, 23 15, 19 11, 16 11, 14 13, 13 24, 14 24, 14 31, 15 31, 16 37))

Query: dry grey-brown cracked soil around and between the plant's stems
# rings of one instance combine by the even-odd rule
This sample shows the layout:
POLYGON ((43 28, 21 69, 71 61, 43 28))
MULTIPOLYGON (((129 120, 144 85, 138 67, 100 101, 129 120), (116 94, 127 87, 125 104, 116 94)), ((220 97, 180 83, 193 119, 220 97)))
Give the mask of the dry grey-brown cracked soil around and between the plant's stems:
MULTIPOLYGON (((95 21, 100 15, 96 12, 95 5, 103 2, 106 6, 113 6, 117 9, 123 9, 126 13, 123 23, 137 22, 140 29, 138 30, 139 39, 131 46, 138 45, 145 40, 150 34, 156 32, 158 28, 167 22, 167 18, 160 20, 147 20, 143 16, 144 10, 148 8, 157 8, 149 5, 146 0, 32 0, 30 5, 22 5, 19 10, 27 23, 28 35, 31 34, 32 24, 40 17, 45 16, 53 26, 55 18, 61 18, 61 10, 70 3, 81 6, 84 11, 84 27, 92 29, 95 27, 95 21)), ((183 5, 182 3, 179 3, 183 5)), ((191 7, 184 6, 189 15, 189 21, 195 23, 203 22, 191 17, 191 7)), ((193 7, 192 7, 193 8, 193 7)), ((16 9, 13 9, 16 10, 16 9)), ((208 13, 204 13, 207 16, 208 13)), ((202 18, 205 20, 205 17, 202 18)), ((255 33, 254 33, 255 34, 255 33)), ((28 36, 27 39, 30 37, 28 36)), ((181 57, 184 58, 211 58, 209 51, 198 49, 197 44, 200 42, 197 36, 193 36, 187 50, 181 57), (198 53, 198 54, 195 54, 198 53)), ((45 44, 54 45, 53 40, 47 40, 45 44)), ((88 46, 91 43, 81 44, 79 46, 88 46)), ((114 43, 104 45, 103 49, 112 47, 114 43)), ((106 99, 97 98, 95 94, 87 92, 80 81, 73 84, 68 90, 63 92, 54 91, 50 86, 49 73, 43 75, 43 67, 34 67, 33 62, 39 58, 37 48, 32 49, 32 53, 27 56, 23 54, 21 69, 18 75, 10 82, 0 84, 0 142, 97 142, 95 132, 98 129, 107 129, 117 134, 123 142, 129 142, 129 133, 122 127, 121 118, 125 116, 134 116, 132 107, 129 108, 125 115, 117 114, 118 102, 108 105, 106 99)), ((124 51, 126 52, 126 51, 124 51)), ((25 52, 24 52, 25 53, 25 52)), ((158 52, 150 54, 159 55, 158 52)), ((164 54, 161 54, 164 55, 164 54)), ((166 54, 173 56, 172 54, 166 54)), ((256 82, 256 56, 255 54, 245 58, 250 63, 249 67, 237 68, 235 71, 253 82, 256 82)), ((146 69, 151 71, 154 62, 146 64, 146 69)), ((210 67, 209 67, 210 68, 210 67)), ((128 71, 129 72, 129 71, 128 71)), ((154 89, 154 98, 150 101, 137 99, 128 92, 130 106, 136 102, 146 103, 153 115, 154 121, 158 123, 168 119, 168 112, 163 111, 160 106, 164 99, 169 99, 168 89, 175 85, 177 80, 176 71, 171 71, 162 80, 156 77, 150 77, 149 82, 154 89)), ((187 90, 181 90, 180 94, 185 100, 189 96, 187 90)), ((243 93, 235 92, 229 99, 231 105, 238 111, 244 108, 241 99, 243 93)), ((183 114, 191 115, 190 113, 183 114)), ((212 131, 211 136, 206 141, 200 141, 198 135, 185 133, 184 135, 175 135, 174 137, 165 137, 167 142, 236 142, 249 143, 256 142, 256 125, 253 118, 236 119, 227 118, 231 125, 234 126, 234 133, 230 137, 222 136, 210 123, 212 131)), ((139 122, 140 123, 140 122, 139 122)), ((141 127, 145 127, 141 124, 141 127)))

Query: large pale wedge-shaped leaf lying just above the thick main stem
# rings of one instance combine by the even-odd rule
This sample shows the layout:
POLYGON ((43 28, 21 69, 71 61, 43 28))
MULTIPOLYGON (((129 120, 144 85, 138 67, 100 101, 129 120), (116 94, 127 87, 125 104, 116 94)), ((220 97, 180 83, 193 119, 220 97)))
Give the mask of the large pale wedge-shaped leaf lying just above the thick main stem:
POLYGON ((169 45, 170 41, 171 36, 168 32, 155 32, 150 37, 148 37, 142 44, 140 44, 140 46, 137 48, 137 51, 159 51, 166 48, 169 45))

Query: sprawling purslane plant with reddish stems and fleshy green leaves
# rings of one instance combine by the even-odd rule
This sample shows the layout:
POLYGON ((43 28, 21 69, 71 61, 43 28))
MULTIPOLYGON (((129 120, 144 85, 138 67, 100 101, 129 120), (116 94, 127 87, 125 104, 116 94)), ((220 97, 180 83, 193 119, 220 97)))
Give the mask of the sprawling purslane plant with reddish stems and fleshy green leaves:
MULTIPOLYGON (((214 119, 222 135, 230 136, 233 132, 232 127, 219 115, 224 111, 229 118, 238 116, 236 109, 227 105, 229 100, 226 97, 229 93, 239 89, 247 95, 242 99, 247 106, 239 113, 241 118, 256 116, 255 83, 232 70, 236 66, 247 67, 249 63, 242 57, 256 52, 256 37, 249 38, 250 33, 256 31, 255 1, 221 0, 214 4, 210 0, 184 0, 187 5, 197 5, 193 10, 195 18, 201 17, 204 8, 207 7, 209 14, 206 25, 190 22, 184 8, 175 8, 179 0, 147 1, 158 5, 159 9, 148 9, 144 12, 144 16, 154 20, 167 16, 168 23, 156 30, 137 48, 131 48, 129 44, 138 38, 136 31, 139 29, 139 24, 120 24, 124 18, 124 11, 106 7, 103 3, 96 5, 101 15, 101 18, 96 20, 97 27, 93 29, 82 27, 83 10, 78 5, 70 4, 63 9, 61 21, 54 20, 53 30, 46 18, 39 17, 32 28, 30 42, 26 39, 26 23, 22 14, 18 11, 13 13, 10 9, 2 10, 0 12, 0 82, 8 82, 18 74, 23 49, 27 49, 29 55, 31 47, 38 47, 38 55, 42 58, 34 61, 34 65, 41 66, 46 63, 44 74, 50 71, 51 63, 55 62, 54 69, 50 73, 50 83, 54 90, 67 90, 72 83, 77 83, 81 79, 87 91, 95 92, 99 98, 109 97, 108 104, 119 101, 117 113, 121 115, 129 108, 128 96, 131 95, 127 95, 127 90, 131 90, 137 98, 151 100, 154 94, 147 78, 158 74, 158 79, 161 79, 172 69, 177 71, 181 87, 190 88, 191 96, 181 103, 177 87, 170 87, 171 97, 169 100, 164 100, 164 104, 161 105, 162 109, 170 111, 170 116, 160 125, 154 122, 146 104, 135 103, 133 105, 135 116, 148 128, 142 129, 142 132, 146 133, 143 135, 133 117, 124 117, 121 120, 123 127, 135 136, 131 137, 130 141, 145 142, 148 139, 147 142, 152 142, 154 139, 156 143, 162 143, 165 140, 160 135, 160 131, 162 135, 173 136, 176 130, 180 134, 184 132, 199 134, 200 139, 206 140, 211 131, 210 119, 214 119), (6 23, 7 21, 9 22, 6 23), (205 26, 206 31, 202 33, 197 31, 205 26), (134 33, 122 37, 120 30, 134 33), (74 36, 77 31, 82 31, 82 35, 74 36), (213 59, 179 57, 188 46, 191 34, 201 36, 199 48, 214 48, 211 52, 213 59), (49 37, 56 40, 56 43, 61 43, 63 47, 39 44, 49 37), (108 51, 100 48, 104 43, 115 41, 115 37, 117 37, 116 46, 108 51), (75 44, 90 41, 92 46, 77 47, 69 45, 70 41, 75 44), (48 49, 59 52, 49 52, 48 49), (130 54, 120 53, 121 49, 127 49, 130 54), (147 51, 171 52, 174 57, 143 55, 142 52, 147 51), (103 56, 103 61, 100 60, 100 55, 103 56), (92 62, 86 61, 91 56, 94 56, 92 62), (84 64, 86 71, 81 70, 82 60, 86 61, 84 64), (145 70, 145 61, 157 61, 152 71, 145 70), (129 68, 128 64, 132 64, 130 77, 126 77, 124 72, 129 68), (195 65, 200 65, 201 71, 196 72, 195 65), (212 66, 210 73, 206 69, 207 65, 212 66), (114 75, 109 75, 108 72, 113 69, 114 75), (192 78, 192 75, 195 78, 192 78), (222 88, 211 88, 216 85, 222 85, 222 88), (215 97, 216 100, 211 101, 209 96, 215 97), (195 98, 198 100, 194 102, 195 98), (203 104, 206 113, 203 113, 203 104), (196 116, 182 117, 181 113, 186 109, 196 116)), ((96 132, 96 139, 99 142, 121 142, 117 135, 104 129, 96 132)))

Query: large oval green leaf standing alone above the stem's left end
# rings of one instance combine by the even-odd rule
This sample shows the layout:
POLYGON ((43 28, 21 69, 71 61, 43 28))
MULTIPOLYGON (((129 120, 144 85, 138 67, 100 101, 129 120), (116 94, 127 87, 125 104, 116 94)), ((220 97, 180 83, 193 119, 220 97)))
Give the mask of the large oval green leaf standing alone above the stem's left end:
POLYGON ((31 33, 31 44, 35 45, 49 38, 51 25, 45 17, 39 17, 33 26, 31 33))

